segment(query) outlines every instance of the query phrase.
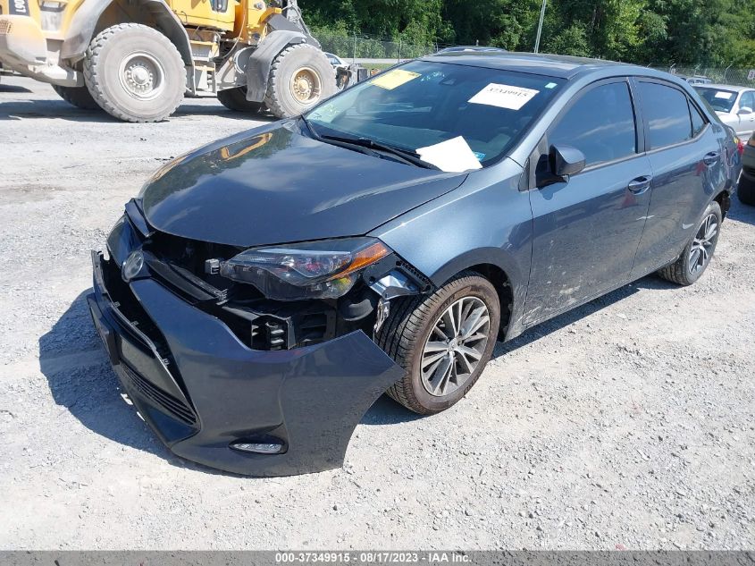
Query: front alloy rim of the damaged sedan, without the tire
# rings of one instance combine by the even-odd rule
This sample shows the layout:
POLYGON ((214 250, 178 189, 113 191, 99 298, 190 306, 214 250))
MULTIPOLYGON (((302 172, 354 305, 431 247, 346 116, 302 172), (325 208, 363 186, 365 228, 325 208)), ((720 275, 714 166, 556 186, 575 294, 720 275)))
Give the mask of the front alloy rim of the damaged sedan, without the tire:
POLYGON ((443 397, 466 384, 480 364, 490 330, 490 312, 477 297, 447 308, 424 343, 420 372, 427 393, 443 397))

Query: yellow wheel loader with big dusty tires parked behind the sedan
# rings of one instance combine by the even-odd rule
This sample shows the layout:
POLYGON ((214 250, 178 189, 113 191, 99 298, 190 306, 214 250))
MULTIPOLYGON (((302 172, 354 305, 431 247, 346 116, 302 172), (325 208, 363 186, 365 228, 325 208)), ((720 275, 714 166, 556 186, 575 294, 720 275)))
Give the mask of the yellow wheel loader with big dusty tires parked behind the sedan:
POLYGON ((0 0, 0 63, 128 122, 184 96, 283 118, 336 92, 296 0, 0 0))

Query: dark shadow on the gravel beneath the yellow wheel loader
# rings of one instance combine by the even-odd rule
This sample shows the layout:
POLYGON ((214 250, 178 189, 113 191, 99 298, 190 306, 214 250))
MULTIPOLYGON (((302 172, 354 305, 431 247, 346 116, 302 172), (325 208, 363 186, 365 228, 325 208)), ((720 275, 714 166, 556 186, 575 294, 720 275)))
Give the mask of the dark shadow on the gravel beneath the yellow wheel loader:
MULTIPOLYGON (((7 92, 30 92, 22 87, 8 85, 7 92)), ((3 87, 0 85, 0 92, 3 87)), ((244 114, 233 112, 221 105, 197 105, 182 104, 178 110, 165 122, 177 118, 191 118, 192 116, 218 116, 230 120, 256 122, 273 122, 272 114, 244 114)), ((103 110, 82 110, 71 106, 64 100, 21 100, 0 102, 0 121, 2 120, 29 120, 37 118, 57 118, 69 122, 98 122, 98 123, 122 123, 103 110)))

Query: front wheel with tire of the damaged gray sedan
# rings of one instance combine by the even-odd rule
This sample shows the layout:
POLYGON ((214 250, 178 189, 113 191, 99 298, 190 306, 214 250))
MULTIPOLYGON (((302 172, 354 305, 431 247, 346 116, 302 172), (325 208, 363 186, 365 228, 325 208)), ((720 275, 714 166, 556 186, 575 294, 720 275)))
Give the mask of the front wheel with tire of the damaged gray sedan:
POLYGON ((393 302, 376 341, 405 373, 388 394, 423 415, 448 409, 491 359, 500 322, 498 293, 481 275, 463 272, 429 297, 393 302))

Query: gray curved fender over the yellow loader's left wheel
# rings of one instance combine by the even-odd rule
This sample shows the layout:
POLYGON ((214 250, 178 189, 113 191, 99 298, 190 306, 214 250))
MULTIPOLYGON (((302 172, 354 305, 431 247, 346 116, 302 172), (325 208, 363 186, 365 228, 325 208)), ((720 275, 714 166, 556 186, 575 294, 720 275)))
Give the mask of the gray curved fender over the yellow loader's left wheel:
POLYGON ((80 61, 92 38, 119 23, 142 23, 160 31, 178 49, 184 64, 193 67, 189 34, 164 0, 85 0, 63 39, 61 59, 80 61))

